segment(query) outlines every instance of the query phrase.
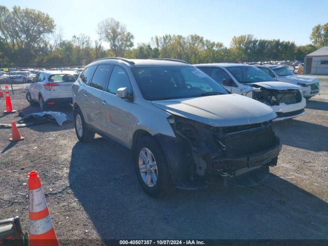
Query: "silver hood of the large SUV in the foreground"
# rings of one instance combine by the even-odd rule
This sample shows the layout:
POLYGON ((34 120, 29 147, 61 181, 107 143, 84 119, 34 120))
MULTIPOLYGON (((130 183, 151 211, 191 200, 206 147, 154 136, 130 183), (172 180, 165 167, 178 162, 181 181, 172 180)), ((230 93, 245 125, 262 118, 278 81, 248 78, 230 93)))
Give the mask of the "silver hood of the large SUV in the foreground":
POLYGON ((152 104, 171 114, 213 127, 256 124, 277 116, 269 106, 237 94, 159 100, 152 104))

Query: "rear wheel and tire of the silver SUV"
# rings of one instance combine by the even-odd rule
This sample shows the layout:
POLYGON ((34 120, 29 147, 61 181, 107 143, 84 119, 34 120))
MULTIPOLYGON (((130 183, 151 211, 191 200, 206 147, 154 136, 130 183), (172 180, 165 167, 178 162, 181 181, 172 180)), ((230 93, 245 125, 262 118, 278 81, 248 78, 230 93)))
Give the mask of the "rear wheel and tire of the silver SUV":
POLYGON ((74 116, 74 127, 77 139, 80 142, 90 142, 94 139, 94 132, 88 129, 86 121, 84 120, 83 114, 79 108, 73 111, 74 116))

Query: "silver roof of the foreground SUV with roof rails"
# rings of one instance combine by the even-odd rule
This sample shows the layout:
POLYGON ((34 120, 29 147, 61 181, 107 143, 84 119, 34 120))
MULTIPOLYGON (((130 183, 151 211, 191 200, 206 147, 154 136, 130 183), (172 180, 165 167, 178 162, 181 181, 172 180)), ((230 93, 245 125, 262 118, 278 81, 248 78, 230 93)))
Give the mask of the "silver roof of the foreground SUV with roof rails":
POLYGON ((174 59, 125 59, 125 58, 102 58, 93 61, 89 65, 106 64, 110 61, 112 64, 126 64, 131 67, 142 66, 192 66, 185 61, 174 59))

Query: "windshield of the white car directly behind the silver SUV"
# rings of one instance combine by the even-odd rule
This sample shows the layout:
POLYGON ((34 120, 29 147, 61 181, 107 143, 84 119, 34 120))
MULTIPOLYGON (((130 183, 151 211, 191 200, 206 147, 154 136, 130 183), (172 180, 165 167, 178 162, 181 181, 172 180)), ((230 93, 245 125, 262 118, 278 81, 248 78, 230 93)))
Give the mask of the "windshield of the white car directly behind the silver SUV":
POLYGON ((227 69, 241 84, 276 81, 270 75, 255 66, 233 66, 227 67, 227 69))

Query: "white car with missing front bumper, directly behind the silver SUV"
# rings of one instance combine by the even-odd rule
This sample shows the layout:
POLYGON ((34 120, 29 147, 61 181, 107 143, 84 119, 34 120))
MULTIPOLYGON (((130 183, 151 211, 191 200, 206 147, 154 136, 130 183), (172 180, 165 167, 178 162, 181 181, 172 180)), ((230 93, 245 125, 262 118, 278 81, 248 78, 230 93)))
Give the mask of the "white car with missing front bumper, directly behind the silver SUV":
POLYGON ((198 64, 228 91, 251 97, 270 106, 277 114, 274 120, 295 118, 304 114, 306 100, 297 85, 275 81, 252 65, 198 64))

